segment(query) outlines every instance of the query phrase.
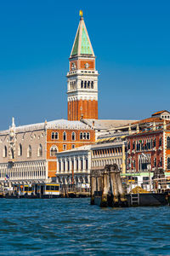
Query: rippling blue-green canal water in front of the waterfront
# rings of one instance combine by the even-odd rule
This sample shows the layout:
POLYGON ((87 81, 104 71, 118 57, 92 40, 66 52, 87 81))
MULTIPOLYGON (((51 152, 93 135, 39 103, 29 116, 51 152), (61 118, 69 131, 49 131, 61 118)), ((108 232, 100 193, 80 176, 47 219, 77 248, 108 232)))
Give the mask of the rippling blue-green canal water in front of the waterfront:
POLYGON ((170 255, 170 207, 0 199, 0 255, 170 255))

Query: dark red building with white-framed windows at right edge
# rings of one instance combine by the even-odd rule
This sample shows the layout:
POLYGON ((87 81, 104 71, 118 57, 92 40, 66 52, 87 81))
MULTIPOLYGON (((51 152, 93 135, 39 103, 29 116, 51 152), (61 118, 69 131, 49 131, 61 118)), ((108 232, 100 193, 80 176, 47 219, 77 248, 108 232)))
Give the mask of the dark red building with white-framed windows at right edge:
POLYGON ((154 172, 170 178, 170 113, 152 114, 136 125, 137 131, 130 130, 127 136, 127 175, 136 176, 144 189, 152 189, 154 172))

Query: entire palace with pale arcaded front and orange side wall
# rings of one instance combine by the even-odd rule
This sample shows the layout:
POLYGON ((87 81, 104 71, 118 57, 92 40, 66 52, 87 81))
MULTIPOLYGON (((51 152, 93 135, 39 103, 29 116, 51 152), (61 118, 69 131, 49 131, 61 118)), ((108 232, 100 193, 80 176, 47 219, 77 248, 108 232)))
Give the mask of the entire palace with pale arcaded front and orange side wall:
POLYGON ((55 120, 0 132, 0 183, 55 180, 56 154, 95 142, 95 131, 80 121, 55 120))

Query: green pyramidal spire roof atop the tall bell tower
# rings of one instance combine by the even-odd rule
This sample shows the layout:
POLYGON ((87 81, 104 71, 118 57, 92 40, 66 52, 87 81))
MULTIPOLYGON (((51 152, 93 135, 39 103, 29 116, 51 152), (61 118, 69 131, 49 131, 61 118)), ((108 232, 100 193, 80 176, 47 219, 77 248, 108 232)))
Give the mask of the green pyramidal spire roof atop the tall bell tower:
POLYGON ((91 55, 94 56, 94 50, 88 37, 88 31, 83 18, 80 20, 77 35, 71 50, 71 57, 75 55, 91 55))

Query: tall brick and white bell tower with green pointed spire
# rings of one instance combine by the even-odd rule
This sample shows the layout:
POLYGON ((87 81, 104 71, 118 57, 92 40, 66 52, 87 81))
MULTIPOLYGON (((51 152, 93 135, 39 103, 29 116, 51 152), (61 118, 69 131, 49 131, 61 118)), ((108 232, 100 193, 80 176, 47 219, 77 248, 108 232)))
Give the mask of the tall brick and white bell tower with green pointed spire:
POLYGON ((94 49, 80 11, 67 73, 68 120, 98 119, 98 71, 94 49))

